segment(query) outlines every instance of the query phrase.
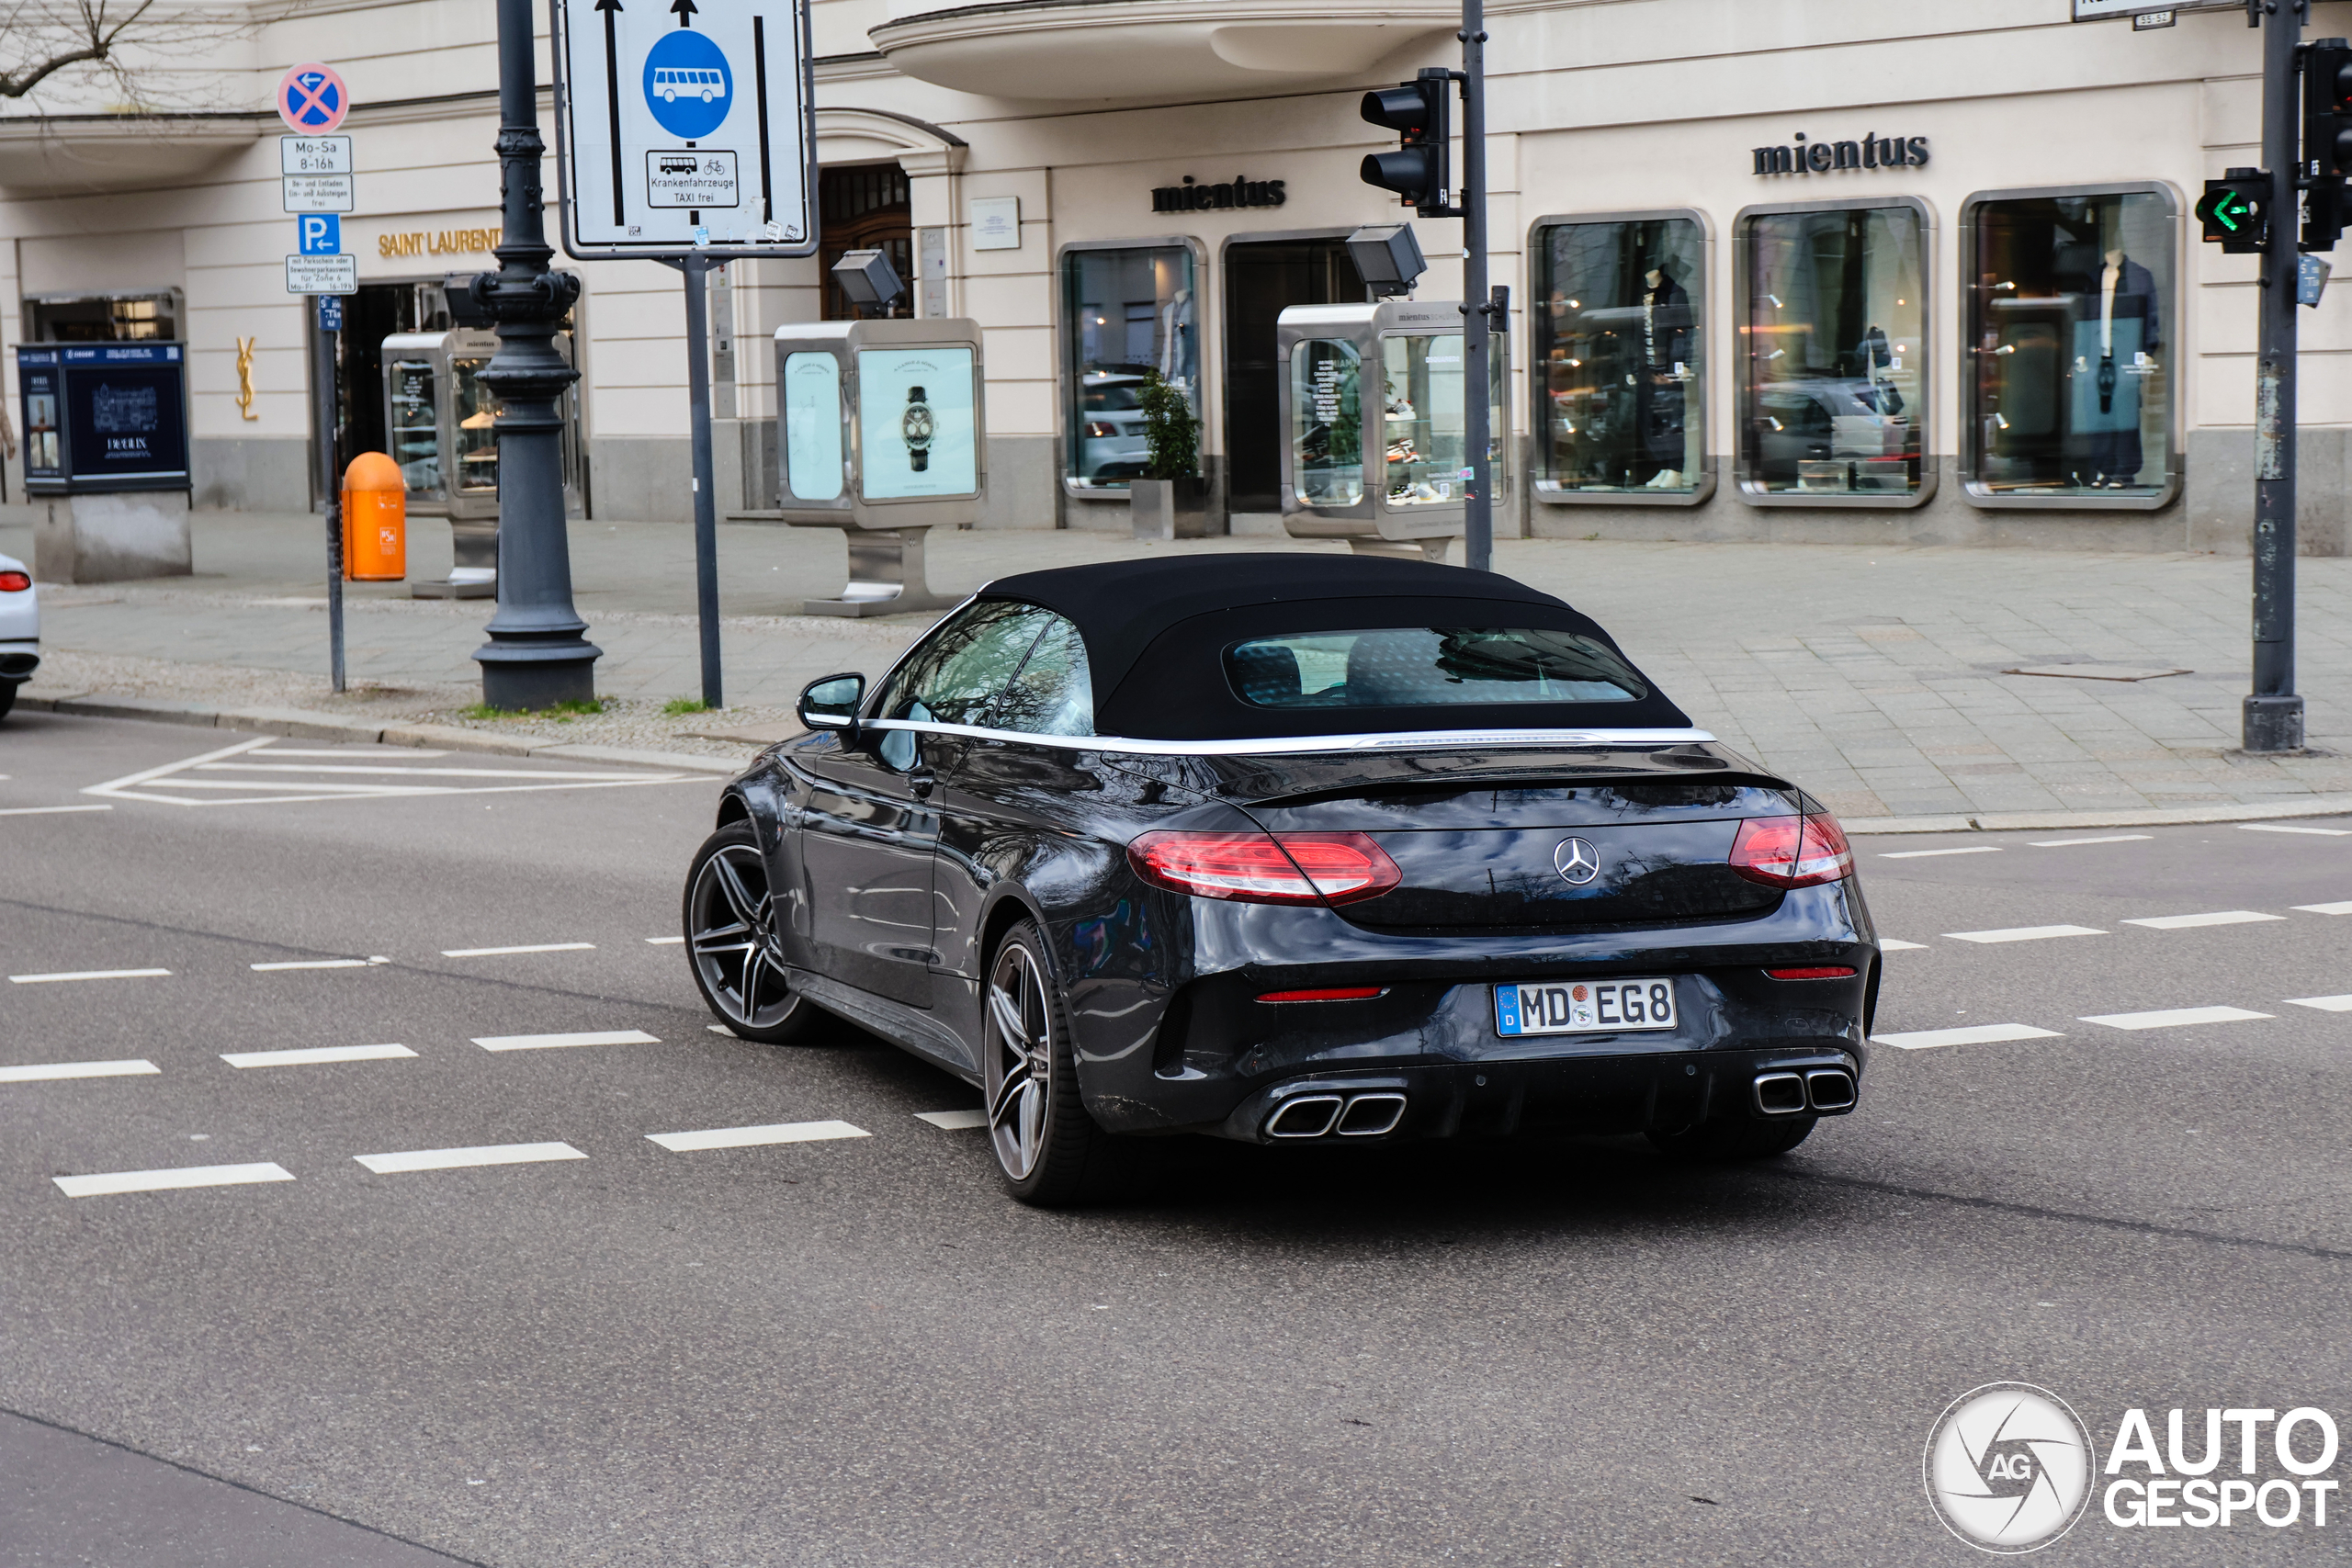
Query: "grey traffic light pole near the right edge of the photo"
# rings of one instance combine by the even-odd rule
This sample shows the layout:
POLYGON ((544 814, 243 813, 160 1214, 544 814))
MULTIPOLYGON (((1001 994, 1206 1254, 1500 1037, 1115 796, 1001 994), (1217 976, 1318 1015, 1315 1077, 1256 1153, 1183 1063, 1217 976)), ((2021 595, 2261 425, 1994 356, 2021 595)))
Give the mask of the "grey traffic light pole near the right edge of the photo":
POLYGON ((2296 693, 2296 172, 2300 169, 2303 0, 2263 16, 2263 162, 2270 169, 2270 249, 2263 254, 2263 336, 2253 393, 2253 691, 2244 710, 2249 752, 2303 750, 2296 693))

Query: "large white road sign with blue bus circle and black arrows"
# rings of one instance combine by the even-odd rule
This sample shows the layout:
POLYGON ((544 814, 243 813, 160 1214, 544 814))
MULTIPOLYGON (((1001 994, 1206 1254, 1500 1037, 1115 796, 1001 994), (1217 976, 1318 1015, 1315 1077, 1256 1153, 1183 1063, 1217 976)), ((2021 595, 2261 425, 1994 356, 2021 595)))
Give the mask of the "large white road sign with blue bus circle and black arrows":
POLYGON ((816 252, 807 0, 553 2, 567 254, 816 252))

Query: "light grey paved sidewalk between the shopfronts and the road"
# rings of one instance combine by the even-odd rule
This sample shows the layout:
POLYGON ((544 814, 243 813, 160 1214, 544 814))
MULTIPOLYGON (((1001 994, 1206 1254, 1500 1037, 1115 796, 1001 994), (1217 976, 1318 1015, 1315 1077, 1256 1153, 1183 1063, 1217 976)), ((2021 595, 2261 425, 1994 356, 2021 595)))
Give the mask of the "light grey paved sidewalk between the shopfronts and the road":
MULTIPOLYGON (((348 590, 348 668, 372 696, 332 701, 320 520, 198 512, 195 578, 45 588, 52 665, 28 691, 139 691, 228 705, 466 719, 489 604, 419 602, 400 583, 348 590)), ((1858 531, 1867 524, 1858 524, 1858 531)), ((447 569, 447 529, 421 522, 412 574, 447 569)), ((1145 552, 1336 550, 1272 538, 1134 543, 1080 531, 946 531, 931 578, 993 576, 1145 552)), ((31 527, 0 510, 0 552, 31 527)), ((684 736, 779 724, 800 686, 877 672, 931 618, 797 614, 844 576, 826 529, 720 527, 724 717, 663 717, 699 691, 691 531, 586 522, 572 531, 576 604, 604 649, 616 715, 590 743, 727 750, 684 736)), ((2300 689, 2307 757, 2239 755, 2249 564, 2204 555, 1992 548, 1501 541, 1496 569, 1606 625, 1705 729, 1802 780, 1849 818, 2312 809, 2352 795, 2352 559, 2303 559, 2300 689), (2143 682, 2009 675, 2020 665, 2183 668, 2143 682)), ((1966 825, 1955 820, 1952 825, 1966 825)))

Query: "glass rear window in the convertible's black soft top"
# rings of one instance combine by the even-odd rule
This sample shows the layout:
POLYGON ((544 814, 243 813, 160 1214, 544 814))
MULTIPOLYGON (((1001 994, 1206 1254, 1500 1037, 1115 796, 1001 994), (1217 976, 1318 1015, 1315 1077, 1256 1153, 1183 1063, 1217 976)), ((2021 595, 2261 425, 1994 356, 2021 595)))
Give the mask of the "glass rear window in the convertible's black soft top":
POLYGON ((1390 625, 1251 637, 1225 649, 1251 708, 1637 703, 1649 686, 1606 644, 1526 628, 1390 625))

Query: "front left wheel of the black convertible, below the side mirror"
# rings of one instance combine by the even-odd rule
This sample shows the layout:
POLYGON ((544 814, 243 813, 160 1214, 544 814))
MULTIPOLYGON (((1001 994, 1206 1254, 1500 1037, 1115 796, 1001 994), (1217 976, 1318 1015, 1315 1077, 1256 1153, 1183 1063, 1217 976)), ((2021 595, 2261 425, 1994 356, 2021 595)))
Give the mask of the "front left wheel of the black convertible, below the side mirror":
POLYGON ((727 823, 694 851, 680 929, 694 987, 739 1039, 781 1046, 823 1023, 816 1004, 793 990, 783 966, 767 856, 748 820, 727 823))

